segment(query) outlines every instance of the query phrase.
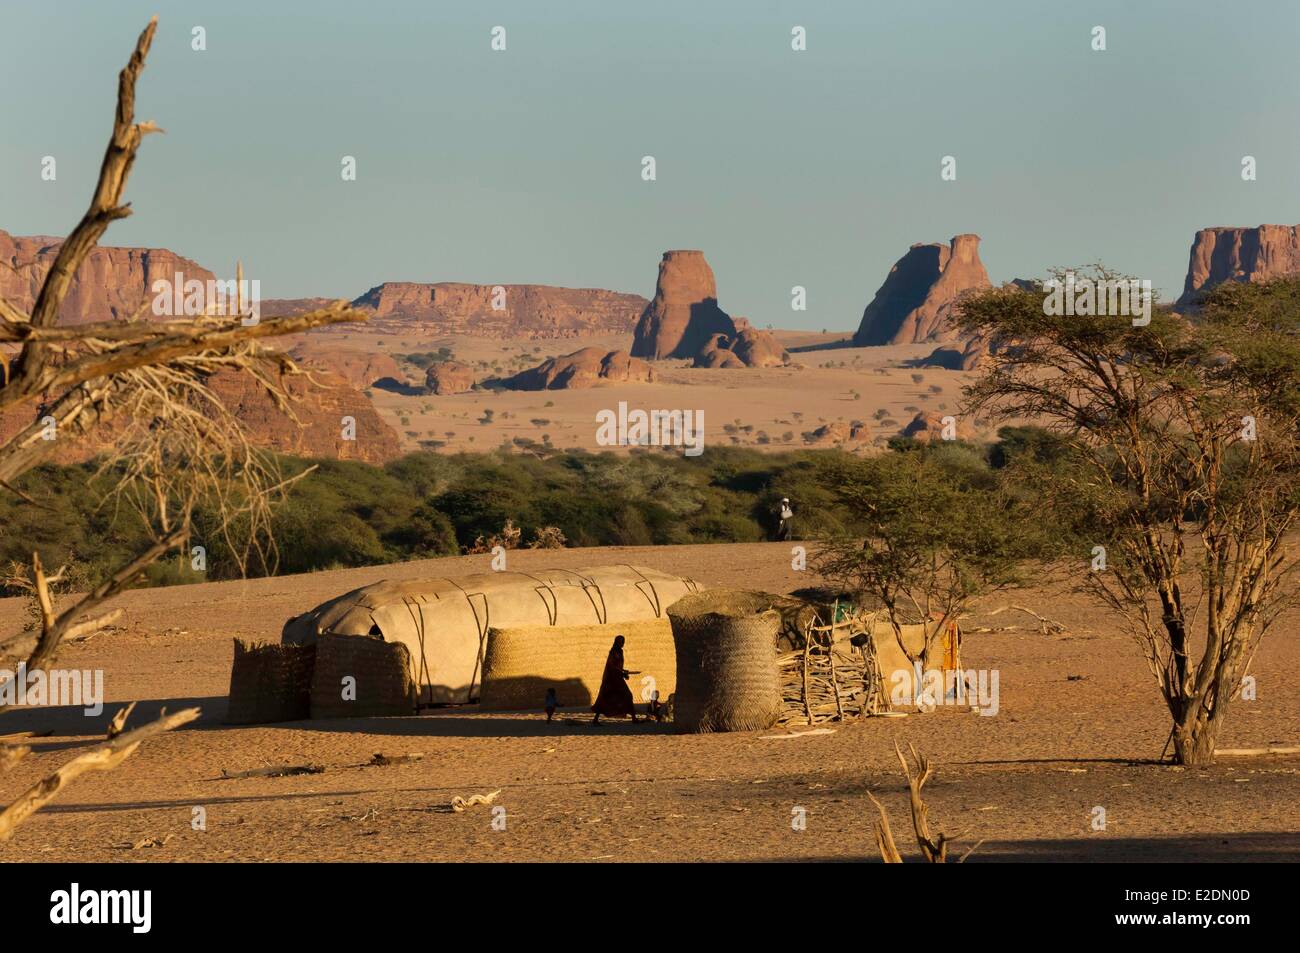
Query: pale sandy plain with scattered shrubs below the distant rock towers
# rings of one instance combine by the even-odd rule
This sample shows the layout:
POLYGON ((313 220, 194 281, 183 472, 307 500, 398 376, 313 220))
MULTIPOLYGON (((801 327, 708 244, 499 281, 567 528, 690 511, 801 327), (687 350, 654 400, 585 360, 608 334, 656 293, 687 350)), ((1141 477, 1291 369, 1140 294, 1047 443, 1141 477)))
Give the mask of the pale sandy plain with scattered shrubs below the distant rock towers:
MULTIPOLYGON (((786 348, 850 337, 848 332, 774 333, 786 348)), ((632 343, 627 334, 502 342, 364 329, 317 339, 394 356, 448 347, 456 360, 473 365, 481 377, 508 376, 581 347, 627 350, 632 343), (494 363, 499 371, 493 369, 494 363)), ((805 433, 854 421, 868 424, 864 443, 870 446, 896 434, 918 411, 957 411, 961 390, 975 374, 910 365, 933 350, 935 345, 803 350, 792 351, 790 367, 746 369, 703 369, 684 360, 663 360, 655 363, 654 382, 603 384, 582 390, 472 390, 436 397, 372 387, 368 393, 407 451, 419 450, 425 441, 436 441, 439 450, 447 451, 490 450, 516 438, 549 441, 562 450, 603 450, 595 443, 595 415, 615 410, 620 400, 632 408, 702 410, 706 446, 711 447, 793 450, 807 446, 805 433)), ((422 372, 410 368, 408 380, 422 385, 422 372)))

